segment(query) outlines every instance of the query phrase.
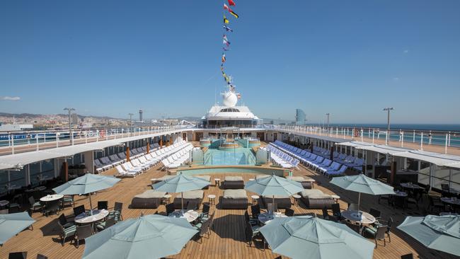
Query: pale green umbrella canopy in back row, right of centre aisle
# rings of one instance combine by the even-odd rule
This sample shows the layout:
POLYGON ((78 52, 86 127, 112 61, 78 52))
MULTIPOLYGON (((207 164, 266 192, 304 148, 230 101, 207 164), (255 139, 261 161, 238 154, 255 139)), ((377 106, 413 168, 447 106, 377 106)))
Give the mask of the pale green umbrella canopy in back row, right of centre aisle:
POLYGON ((268 177, 251 180, 246 183, 244 188, 263 196, 290 196, 304 190, 301 183, 288 180, 277 175, 270 175, 268 177))

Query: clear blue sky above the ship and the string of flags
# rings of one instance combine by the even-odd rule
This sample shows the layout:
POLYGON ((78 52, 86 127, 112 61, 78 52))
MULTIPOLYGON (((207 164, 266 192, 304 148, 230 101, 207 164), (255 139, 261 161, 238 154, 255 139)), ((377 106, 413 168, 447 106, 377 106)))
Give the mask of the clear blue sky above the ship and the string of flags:
MULTIPOLYGON (((460 122, 460 1, 235 1, 226 72, 259 117, 460 122)), ((0 111, 201 116, 223 3, 1 1, 0 111)))

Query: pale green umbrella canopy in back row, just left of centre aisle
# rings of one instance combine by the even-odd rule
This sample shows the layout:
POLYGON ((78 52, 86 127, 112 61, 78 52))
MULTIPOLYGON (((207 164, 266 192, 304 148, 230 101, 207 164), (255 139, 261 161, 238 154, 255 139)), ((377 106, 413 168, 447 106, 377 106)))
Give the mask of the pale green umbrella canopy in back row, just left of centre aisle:
POLYGON ((154 190, 161 192, 187 192, 188 190, 201 190, 210 185, 207 180, 197 178, 182 173, 173 178, 168 178, 159 183, 154 184, 154 190))

